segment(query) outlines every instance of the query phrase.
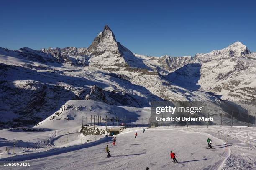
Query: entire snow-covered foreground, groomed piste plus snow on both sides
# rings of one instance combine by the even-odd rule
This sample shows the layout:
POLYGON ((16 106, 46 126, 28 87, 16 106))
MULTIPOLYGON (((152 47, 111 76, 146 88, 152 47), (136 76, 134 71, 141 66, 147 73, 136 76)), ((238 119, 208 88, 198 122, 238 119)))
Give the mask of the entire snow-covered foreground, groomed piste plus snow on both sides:
POLYGON ((116 146, 111 145, 113 137, 84 136, 78 130, 79 127, 44 132, 0 130, 0 169, 256 169, 255 127, 165 126, 146 129, 145 133, 142 133, 141 127, 127 128, 123 133, 115 135, 116 146), (138 132, 136 139, 135 132, 138 132), (207 149, 208 137, 212 139, 213 149, 207 149), (48 142, 44 146, 46 140, 48 142), (11 154, 12 150, 5 154, 5 146, 12 148, 13 142, 20 145, 15 145, 15 155, 11 154), (110 158, 106 157, 106 145, 110 146, 110 158), (20 151, 17 153, 16 150, 20 151), (176 153, 179 164, 170 160, 170 150, 176 153), (3 162, 14 161, 29 162, 31 166, 3 166, 3 162))

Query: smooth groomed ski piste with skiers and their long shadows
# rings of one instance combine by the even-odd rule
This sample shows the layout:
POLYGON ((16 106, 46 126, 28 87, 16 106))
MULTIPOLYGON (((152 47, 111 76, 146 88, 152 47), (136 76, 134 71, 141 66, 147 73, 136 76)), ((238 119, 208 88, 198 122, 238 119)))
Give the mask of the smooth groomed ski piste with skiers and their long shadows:
POLYGON ((57 148, 56 152, 18 155, 11 159, 30 162, 31 166, 26 169, 40 170, 144 170, 146 167, 150 170, 216 170, 226 158, 225 144, 217 138, 209 136, 213 149, 206 149, 206 133, 172 129, 146 129, 145 133, 140 129, 136 132, 137 138, 134 138, 135 131, 128 130, 115 135, 116 146, 111 145, 112 137, 108 137, 95 143, 62 148, 62 151, 57 148), (110 146, 110 158, 105 152, 106 145, 110 146), (171 150, 180 163, 171 161, 171 150))

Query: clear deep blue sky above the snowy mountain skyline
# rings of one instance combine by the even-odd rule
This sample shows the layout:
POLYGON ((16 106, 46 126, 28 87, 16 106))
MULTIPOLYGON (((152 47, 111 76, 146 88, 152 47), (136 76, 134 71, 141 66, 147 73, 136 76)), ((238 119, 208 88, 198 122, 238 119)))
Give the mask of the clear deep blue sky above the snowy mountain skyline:
POLYGON ((240 41, 256 51, 256 2, 1 0, 0 47, 88 47, 105 24, 134 53, 184 56, 240 41))

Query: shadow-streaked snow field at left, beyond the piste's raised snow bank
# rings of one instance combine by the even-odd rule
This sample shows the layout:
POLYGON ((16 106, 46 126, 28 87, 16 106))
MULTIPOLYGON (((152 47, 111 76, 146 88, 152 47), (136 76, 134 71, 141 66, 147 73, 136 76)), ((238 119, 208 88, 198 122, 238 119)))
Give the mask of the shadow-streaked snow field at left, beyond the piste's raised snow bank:
POLYGON ((61 128, 59 130, 44 129, 44 131, 24 131, 21 129, 37 130, 38 128, 12 128, 12 131, 10 129, 0 130, 0 159, 51 149, 61 150, 61 147, 66 148, 67 146, 90 143, 104 137, 102 135, 84 136, 80 133, 81 127, 61 128), (6 149, 9 149, 9 151, 6 151, 6 149))

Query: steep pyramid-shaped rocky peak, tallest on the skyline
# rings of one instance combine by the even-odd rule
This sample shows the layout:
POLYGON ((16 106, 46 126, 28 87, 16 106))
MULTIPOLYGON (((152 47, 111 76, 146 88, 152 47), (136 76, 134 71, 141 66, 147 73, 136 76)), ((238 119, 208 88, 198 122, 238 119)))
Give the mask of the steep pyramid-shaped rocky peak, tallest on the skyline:
POLYGON ((108 25, 104 26, 104 30, 97 35, 87 48, 87 55, 91 57, 90 65, 97 67, 119 65, 122 68, 130 66, 149 69, 130 50, 115 40, 115 35, 108 25))

